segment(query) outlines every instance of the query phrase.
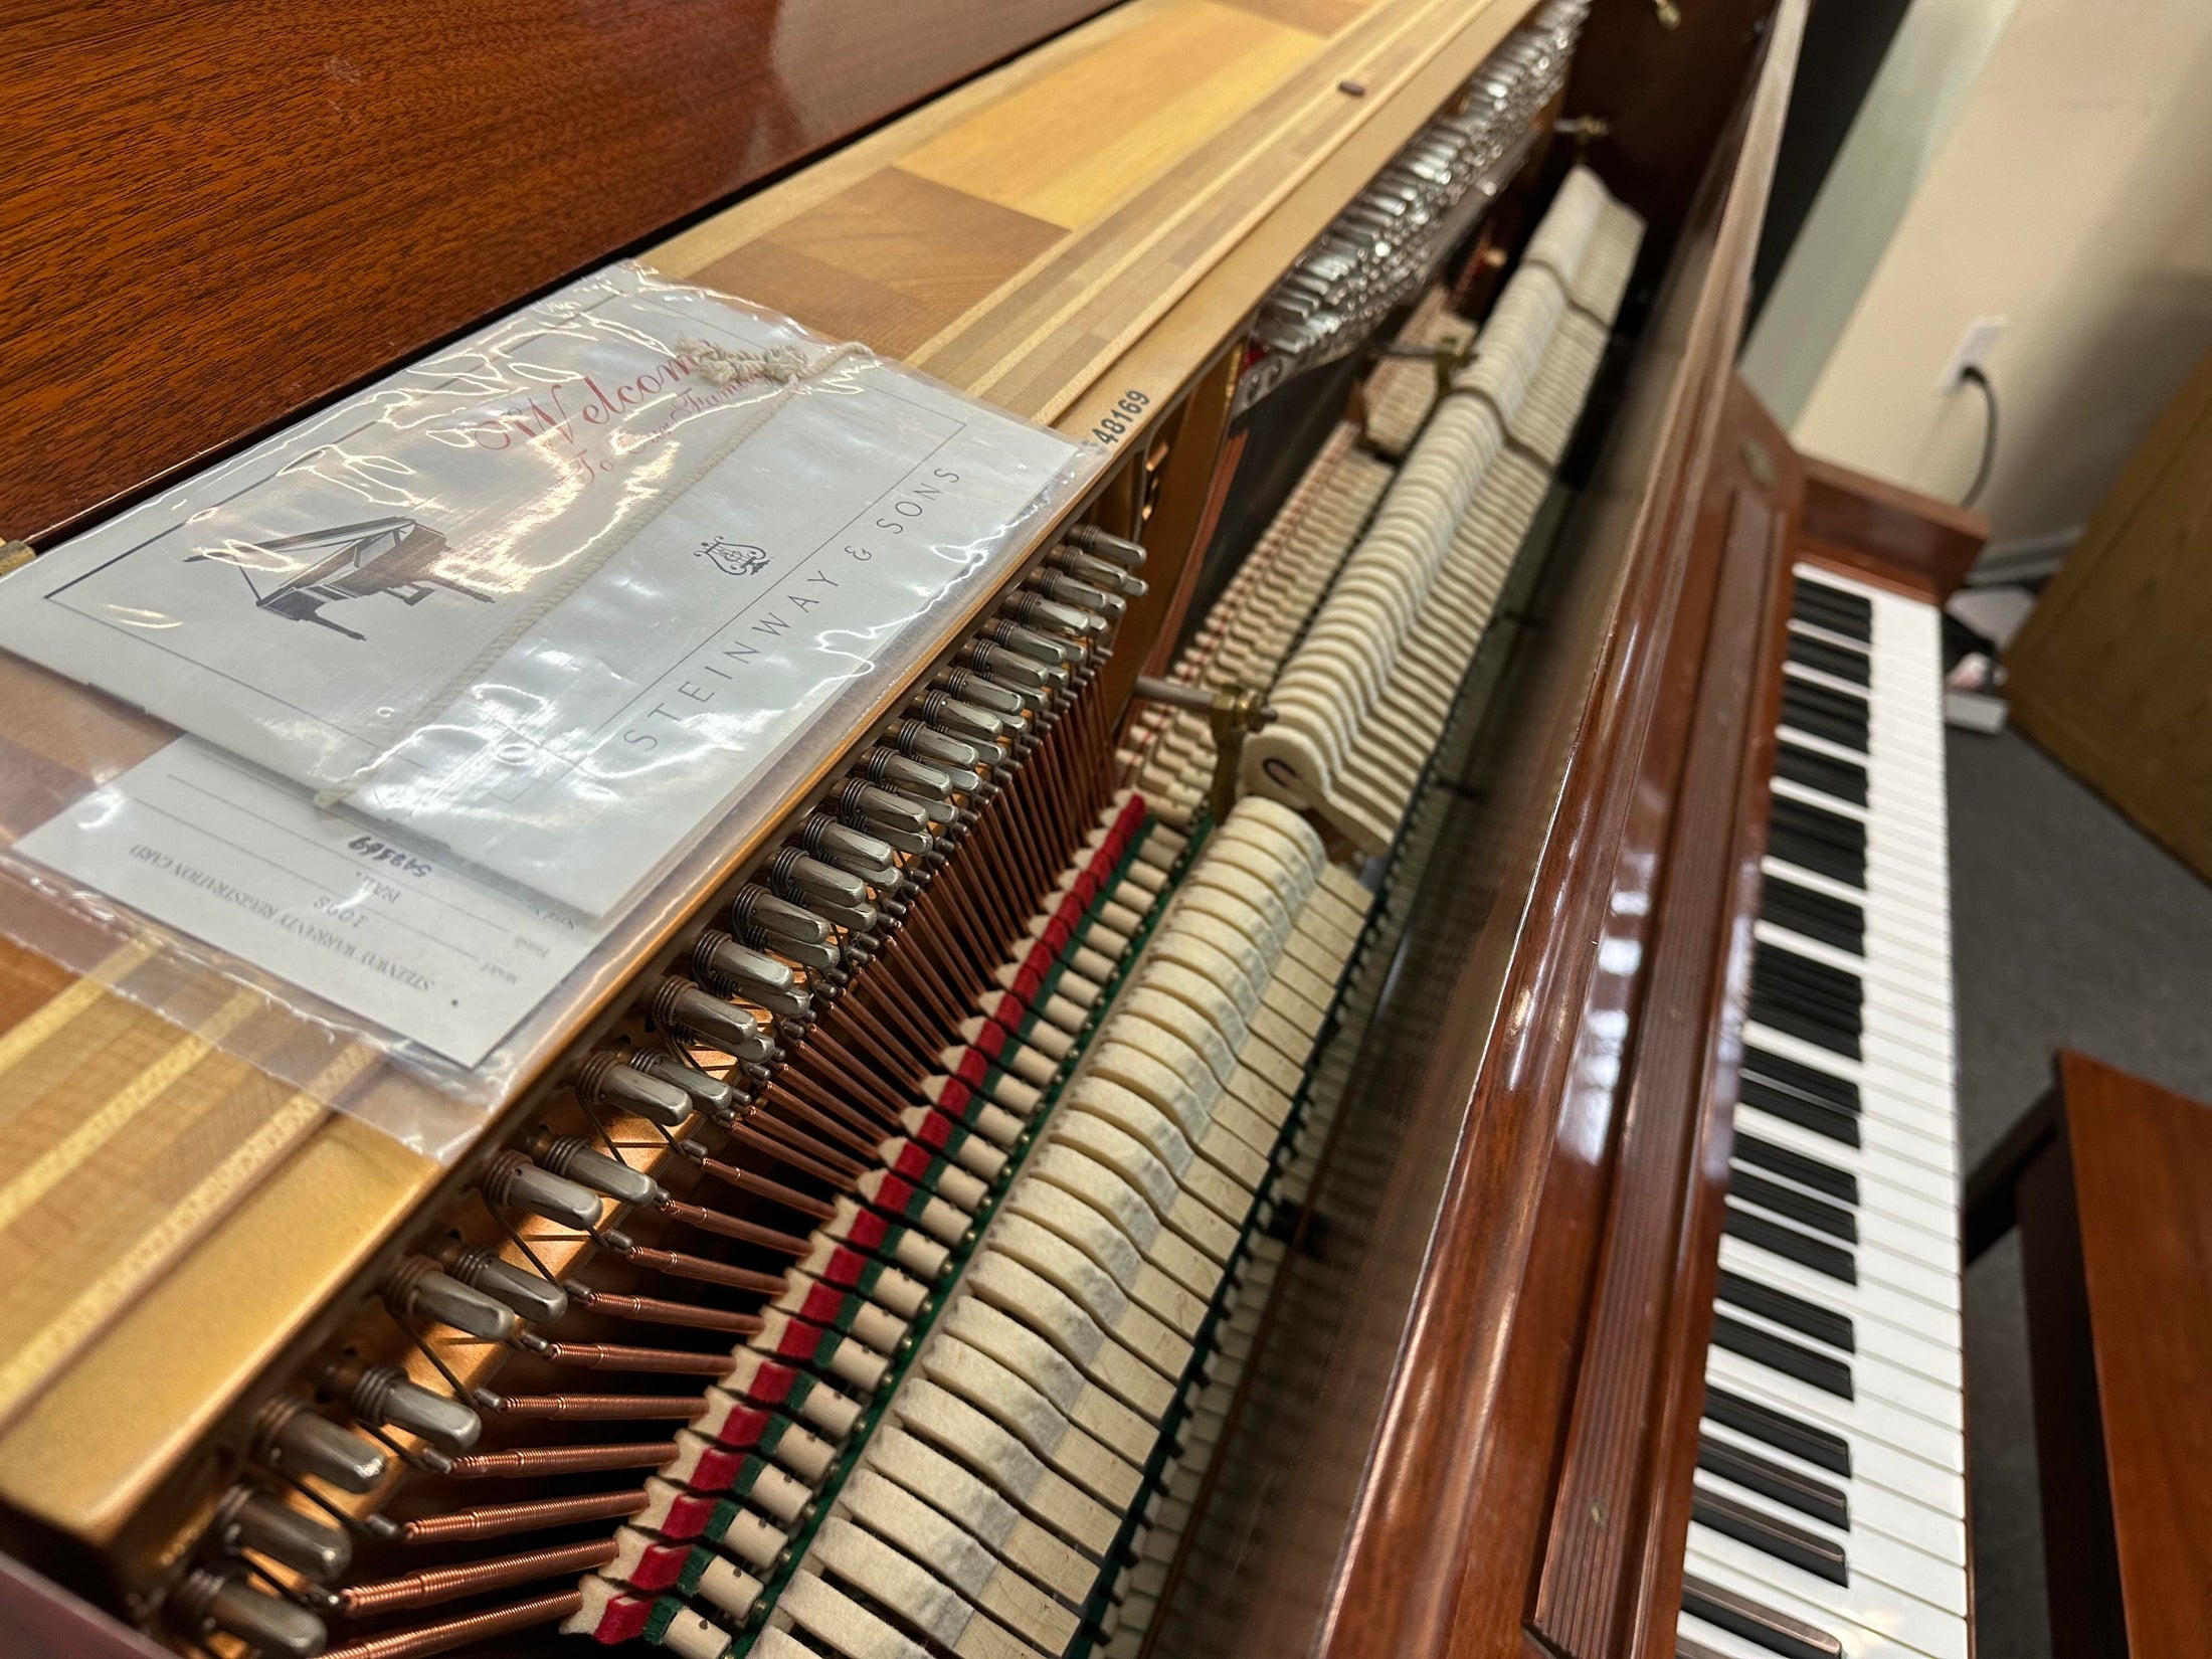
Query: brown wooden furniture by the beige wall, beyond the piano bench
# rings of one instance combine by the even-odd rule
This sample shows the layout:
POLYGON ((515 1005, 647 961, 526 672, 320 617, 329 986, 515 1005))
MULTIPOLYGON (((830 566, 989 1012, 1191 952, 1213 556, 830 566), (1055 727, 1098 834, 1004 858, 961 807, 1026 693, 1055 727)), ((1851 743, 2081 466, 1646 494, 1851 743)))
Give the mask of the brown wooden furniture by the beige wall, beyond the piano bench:
POLYGON ((2212 356, 2004 653, 2013 719, 2212 880, 2212 356))

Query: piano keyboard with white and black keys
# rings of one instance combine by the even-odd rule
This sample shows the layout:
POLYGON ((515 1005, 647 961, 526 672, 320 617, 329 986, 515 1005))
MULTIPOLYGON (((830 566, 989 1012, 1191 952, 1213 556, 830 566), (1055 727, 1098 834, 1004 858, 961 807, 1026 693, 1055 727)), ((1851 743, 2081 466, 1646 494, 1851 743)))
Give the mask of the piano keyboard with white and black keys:
POLYGON ((1933 606, 1798 566, 1683 1659, 1966 1659, 1933 606))

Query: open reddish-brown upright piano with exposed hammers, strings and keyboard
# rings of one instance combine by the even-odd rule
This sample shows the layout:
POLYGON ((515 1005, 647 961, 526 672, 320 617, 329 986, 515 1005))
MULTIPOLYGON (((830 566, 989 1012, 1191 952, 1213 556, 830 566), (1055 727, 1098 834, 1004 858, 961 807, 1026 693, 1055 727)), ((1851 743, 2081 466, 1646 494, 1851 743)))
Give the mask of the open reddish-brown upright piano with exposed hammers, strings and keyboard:
MULTIPOLYGON (((1984 531, 1734 378, 1805 0, 261 13, 24 24, 7 582, 611 259, 1095 467, 493 1099, 0 869, 0 1648, 1969 1659, 1984 531)), ((175 737, 0 675, 9 845, 175 737)))

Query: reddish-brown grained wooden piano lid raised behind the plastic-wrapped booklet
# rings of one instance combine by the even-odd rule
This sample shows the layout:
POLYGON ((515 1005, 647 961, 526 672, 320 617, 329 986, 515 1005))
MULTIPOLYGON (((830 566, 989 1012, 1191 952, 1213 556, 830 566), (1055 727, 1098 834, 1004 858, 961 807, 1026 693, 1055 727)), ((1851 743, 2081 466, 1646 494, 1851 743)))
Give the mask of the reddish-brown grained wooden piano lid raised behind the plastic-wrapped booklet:
POLYGON ((1102 4, 18 7, 0 535, 51 535, 1102 4))

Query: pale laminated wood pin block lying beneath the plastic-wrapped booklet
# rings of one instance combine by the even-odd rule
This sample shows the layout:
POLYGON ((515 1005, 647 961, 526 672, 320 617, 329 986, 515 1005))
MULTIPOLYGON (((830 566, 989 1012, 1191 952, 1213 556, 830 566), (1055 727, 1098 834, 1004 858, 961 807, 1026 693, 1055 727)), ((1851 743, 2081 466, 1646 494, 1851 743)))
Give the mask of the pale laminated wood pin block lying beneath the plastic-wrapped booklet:
MULTIPOLYGON (((1186 389, 1221 361, 1290 259, 1522 11, 1517 0, 1137 0, 646 257, 832 332, 916 341, 922 367, 1071 434, 1115 414, 1113 460, 1181 431, 1186 389), (1230 66, 1194 53, 1206 40, 1261 44, 1230 66), (1352 77, 1365 95, 1338 91, 1352 77), (1141 137, 1102 170, 1099 128, 1068 111, 1106 97, 1117 100, 1106 126, 1141 137), (1024 166, 995 179, 975 159, 982 135, 1024 166), (984 234, 993 226, 998 239, 984 234), (956 341, 969 356, 949 354, 956 341)), ((1221 422, 1188 429, 1203 449, 1221 422)), ((1206 460, 1170 460, 1164 531, 1203 524, 1206 460)), ((1172 549, 1164 557, 1175 564, 1172 549)), ((1157 591, 1166 599, 1172 588, 1157 591)), ((71 719, 11 728, 55 774, 55 805, 84 776, 86 741, 71 719)), ((148 750, 164 739, 148 721, 133 732, 148 750)), ((102 734, 102 745, 117 741, 102 734)), ((726 865, 745 852, 730 849, 726 865)), ((686 914, 670 909, 659 956, 686 914)), ((635 971, 608 964, 586 1009, 635 971)), ((24 1159, 60 1146, 42 1168, 66 1179, 46 1181, 46 1203, 13 1217, 20 1228, 0 1208, 11 1285, 0 1338, 22 1356, 0 1371, 0 1420, 15 1418, 0 1436, 0 1498, 75 1535, 111 1537, 449 1177, 204 1035, 0 942, 0 984, 9 973, 22 991, 0 1031, 0 1088, 55 1121, 75 1113, 115 1133, 73 1137, 64 1126, 33 1139, 38 1115, 13 1126, 24 1159), (95 1192, 108 1203, 88 1212, 95 1192), (281 1261, 274 1241, 290 1243, 281 1261), (184 1332, 188 1354, 177 1352, 184 1332), (142 1387, 148 1374, 161 1385, 142 1387)), ((584 1011, 577 1029, 591 1031, 584 1011)))

